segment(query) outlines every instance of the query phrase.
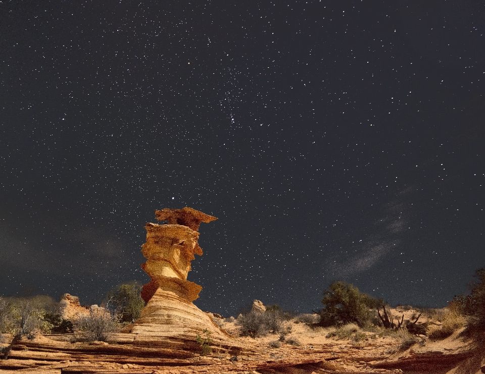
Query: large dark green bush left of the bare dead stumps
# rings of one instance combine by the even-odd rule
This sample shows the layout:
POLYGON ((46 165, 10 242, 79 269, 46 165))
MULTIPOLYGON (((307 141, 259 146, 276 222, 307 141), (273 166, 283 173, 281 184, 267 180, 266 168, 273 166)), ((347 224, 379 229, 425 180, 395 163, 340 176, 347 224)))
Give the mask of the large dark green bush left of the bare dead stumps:
POLYGON ((356 323, 364 326, 370 323, 378 301, 366 294, 361 294, 350 283, 333 282, 323 293, 323 309, 320 310, 322 326, 356 323))

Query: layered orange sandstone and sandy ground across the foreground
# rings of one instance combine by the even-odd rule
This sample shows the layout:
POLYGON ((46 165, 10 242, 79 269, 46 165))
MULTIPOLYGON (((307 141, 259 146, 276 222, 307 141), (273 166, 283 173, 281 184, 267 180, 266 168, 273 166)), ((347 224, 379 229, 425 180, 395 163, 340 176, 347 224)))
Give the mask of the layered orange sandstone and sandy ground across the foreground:
MULTIPOLYGON (((407 318, 407 317, 406 317, 407 318)), ((24 338, 7 360, 0 360, 1 373, 42 374, 152 374, 152 373, 473 373, 485 372, 485 348, 460 336, 462 329, 440 341, 416 338, 410 347, 402 338, 379 336, 359 330, 344 339, 327 338, 331 329, 316 327, 294 318, 285 322, 286 334, 268 334, 252 339, 238 337, 233 319, 214 317, 234 336, 240 350, 213 346, 202 356, 193 347, 171 349, 167 342, 137 345, 133 334, 115 334, 107 343, 75 342, 67 335, 24 338), (278 342, 278 343, 276 343, 278 342)), ((430 322, 430 321, 428 321, 430 322)), ((439 322, 437 322, 439 323, 439 322)), ((4 346, 12 337, 7 336, 4 346)), ((177 347, 180 347, 178 345, 177 347)), ((186 347, 189 347, 187 345, 186 347)))

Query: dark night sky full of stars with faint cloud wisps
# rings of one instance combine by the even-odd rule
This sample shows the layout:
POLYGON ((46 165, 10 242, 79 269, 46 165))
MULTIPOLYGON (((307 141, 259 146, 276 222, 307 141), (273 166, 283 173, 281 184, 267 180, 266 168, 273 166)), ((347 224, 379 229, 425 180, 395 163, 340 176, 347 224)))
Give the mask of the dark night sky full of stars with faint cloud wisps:
POLYGON ((485 266, 484 33, 478 0, 0 1, 0 295, 146 283, 190 206, 202 310, 447 305, 485 266))

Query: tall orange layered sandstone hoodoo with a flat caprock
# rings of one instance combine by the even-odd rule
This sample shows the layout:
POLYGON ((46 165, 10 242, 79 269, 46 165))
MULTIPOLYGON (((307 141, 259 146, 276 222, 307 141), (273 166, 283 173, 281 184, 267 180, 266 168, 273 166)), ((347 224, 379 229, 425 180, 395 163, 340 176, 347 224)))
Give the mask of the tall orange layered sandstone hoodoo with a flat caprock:
POLYGON ((209 223, 217 218, 189 207, 163 209, 155 211, 155 215, 158 221, 168 221, 168 224, 145 226, 147 242, 141 246, 141 252, 147 262, 141 268, 151 281, 141 291, 147 305, 130 326, 130 333, 136 334, 135 342, 193 344, 196 336, 207 329, 221 347, 237 346, 231 335, 192 303, 202 287, 187 280, 190 261, 195 259, 195 254, 203 254, 196 230, 201 222, 209 223))

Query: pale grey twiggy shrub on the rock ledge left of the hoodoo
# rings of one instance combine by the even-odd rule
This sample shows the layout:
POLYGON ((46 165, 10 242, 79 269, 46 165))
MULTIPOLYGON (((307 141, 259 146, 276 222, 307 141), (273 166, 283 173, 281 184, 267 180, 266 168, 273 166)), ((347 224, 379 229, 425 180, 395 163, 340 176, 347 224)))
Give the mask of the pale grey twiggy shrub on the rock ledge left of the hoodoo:
POLYGON ((89 311, 74 321, 74 329, 80 331, 80 340, 105 342, 118 328, 118 321, 108 311, 89 311))

